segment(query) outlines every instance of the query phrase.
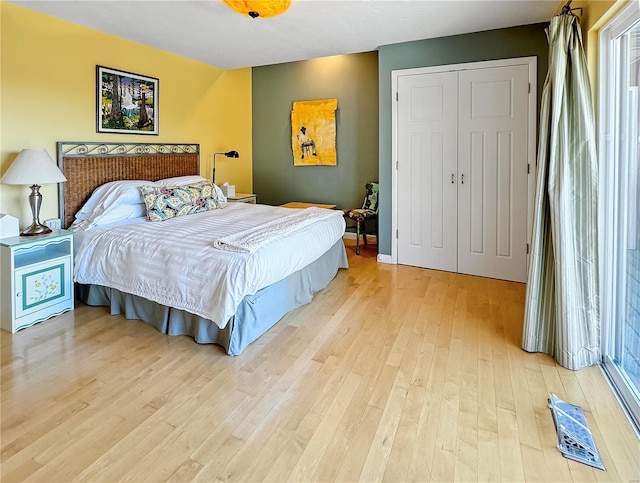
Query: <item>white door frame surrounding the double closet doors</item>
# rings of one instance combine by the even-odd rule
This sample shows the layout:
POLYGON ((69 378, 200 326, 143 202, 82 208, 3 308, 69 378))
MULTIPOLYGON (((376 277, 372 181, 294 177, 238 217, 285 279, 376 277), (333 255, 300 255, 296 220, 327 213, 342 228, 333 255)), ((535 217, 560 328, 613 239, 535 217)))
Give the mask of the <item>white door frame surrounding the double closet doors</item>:
MULTIPOLYGON (((378 260, 384 263, 398 263, 398 79, 401 76, 435 74, 450 71, 472 69, 488 69, 495 67, 509 67, 526 65, 529 68, 529 119, 527 163, 529 175, 527 179, 527 243, 531 243, 533 226, 534 195, 536 189, 536 132, 537 132, 537 57, 517 57, 512 59, 489 60, 482 62, 467 62, 463 64, 439 65, 434 67, 418 67, 415 69, 400 69, 391 71, 391 255, 378 255, 378 260)), ((527 254, 527 271, 529 267, 527 254)))

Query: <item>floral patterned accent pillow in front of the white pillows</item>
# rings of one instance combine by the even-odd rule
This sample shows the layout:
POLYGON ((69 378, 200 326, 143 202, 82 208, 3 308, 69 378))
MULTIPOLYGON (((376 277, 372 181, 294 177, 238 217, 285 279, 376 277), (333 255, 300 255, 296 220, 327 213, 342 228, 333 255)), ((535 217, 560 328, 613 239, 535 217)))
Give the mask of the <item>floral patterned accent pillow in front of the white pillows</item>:
POLYGON ((218 196, 209 181, 184 186, 140 186, 147 207, 147 218, 164 221, 176 216, 193 215, 220 207, 218 196))

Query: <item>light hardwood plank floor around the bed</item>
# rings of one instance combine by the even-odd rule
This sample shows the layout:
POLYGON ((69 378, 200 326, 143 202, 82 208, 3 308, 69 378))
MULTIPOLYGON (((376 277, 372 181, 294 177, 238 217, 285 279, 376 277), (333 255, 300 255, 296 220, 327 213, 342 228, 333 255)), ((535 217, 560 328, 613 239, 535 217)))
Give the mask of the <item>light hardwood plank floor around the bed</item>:
POLYGON ((525 287, 373 250, 238 357, 79 305, 1 334, 1 479, 640 480, 597 367, 520 349, 525 287), (556 449, 550 392, 607 471, 556 449))

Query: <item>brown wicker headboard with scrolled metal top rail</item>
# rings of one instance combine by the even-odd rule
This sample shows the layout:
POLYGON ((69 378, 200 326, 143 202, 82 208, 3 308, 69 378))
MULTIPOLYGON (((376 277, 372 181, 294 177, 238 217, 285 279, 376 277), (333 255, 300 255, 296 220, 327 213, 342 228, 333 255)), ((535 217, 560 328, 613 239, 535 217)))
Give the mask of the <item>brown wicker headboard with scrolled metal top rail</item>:
POLYGON ((96 143, 60 141, 60 217, 67 228, 93 190, 109 181, 156 181, 200 174, 199 144, 96 143))

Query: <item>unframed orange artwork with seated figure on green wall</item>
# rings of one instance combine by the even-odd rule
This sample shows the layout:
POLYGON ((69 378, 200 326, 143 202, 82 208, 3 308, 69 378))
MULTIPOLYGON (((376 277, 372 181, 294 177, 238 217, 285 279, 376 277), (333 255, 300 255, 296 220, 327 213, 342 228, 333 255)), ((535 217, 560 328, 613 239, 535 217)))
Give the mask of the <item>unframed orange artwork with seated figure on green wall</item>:
POLYGON ((291 111, 294 166, 336 166, 337 99, 296 101, 291 111))

